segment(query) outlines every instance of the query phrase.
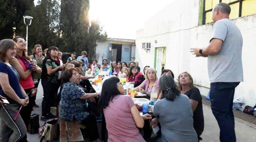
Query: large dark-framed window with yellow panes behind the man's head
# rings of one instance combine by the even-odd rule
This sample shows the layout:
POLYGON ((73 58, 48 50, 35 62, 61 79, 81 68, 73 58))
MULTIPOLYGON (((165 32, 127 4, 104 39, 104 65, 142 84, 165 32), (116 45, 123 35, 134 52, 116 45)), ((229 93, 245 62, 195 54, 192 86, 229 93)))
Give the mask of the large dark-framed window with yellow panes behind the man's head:
POLYGON ((220 2, 230 5, 230 19, 256 14, 256 0, 203 0, 203 24, 212 23, 212 9, 220 2))

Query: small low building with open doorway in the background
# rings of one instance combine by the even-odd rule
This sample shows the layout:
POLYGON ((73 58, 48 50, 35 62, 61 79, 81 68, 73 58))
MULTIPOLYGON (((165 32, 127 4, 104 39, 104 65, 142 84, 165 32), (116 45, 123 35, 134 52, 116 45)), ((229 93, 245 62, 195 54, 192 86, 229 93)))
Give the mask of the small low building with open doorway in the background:
POLYGON ((135 40, 108 38, 104 42, 96 42, 95 59, 102 64, 103 59, 116 62, 135 60, 135 40))

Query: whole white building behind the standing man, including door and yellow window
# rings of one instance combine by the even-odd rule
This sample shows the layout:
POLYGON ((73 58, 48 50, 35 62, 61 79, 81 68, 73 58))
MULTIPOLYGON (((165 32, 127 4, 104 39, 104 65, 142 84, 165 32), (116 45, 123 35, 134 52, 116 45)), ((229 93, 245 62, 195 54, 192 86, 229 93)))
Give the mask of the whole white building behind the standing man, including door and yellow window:
MULTIPOLYGON (((160 77, 163 69, 170 69, 175 80, 182 71, 188 71, 202 95, 210 88, 207 58, 196 58, 190 48, 204 48, 209 44, 213 28, 212 8, 219 0, 172 1, 145 22, 136 33, 135 59, 140 68, 154 67, 160 77)), ((245 105, 256 103, 256 0, 222 0, 231 7, 230 19, 243 36, 242 62, 244 82, 235 91, 243 96, 245 105)))

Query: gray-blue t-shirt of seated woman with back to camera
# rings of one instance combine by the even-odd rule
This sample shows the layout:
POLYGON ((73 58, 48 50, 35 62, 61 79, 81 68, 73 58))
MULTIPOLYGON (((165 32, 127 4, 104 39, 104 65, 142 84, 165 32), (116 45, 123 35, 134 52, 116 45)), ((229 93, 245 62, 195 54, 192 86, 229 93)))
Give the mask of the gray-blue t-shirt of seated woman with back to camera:
POLYGON ((180 94, 174 101, 166 98, 158 100, 153 113, 161 124, 162 142, 198 141, 188 96, 180 94))

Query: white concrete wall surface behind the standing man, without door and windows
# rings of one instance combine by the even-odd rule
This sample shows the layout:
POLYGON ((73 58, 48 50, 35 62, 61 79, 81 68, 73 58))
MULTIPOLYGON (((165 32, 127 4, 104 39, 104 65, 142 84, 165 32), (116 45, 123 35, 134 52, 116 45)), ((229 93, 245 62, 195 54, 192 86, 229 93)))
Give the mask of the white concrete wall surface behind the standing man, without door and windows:
MULTIPOLYGON (((171 3, 145 23, 145 28, 136 33, 135 59, 141 68, 154 67, 156 47, 166 47, 165 69, 174 72, 177 79, 181 71, 191 73, 202 95, 207 95, 210 81, 207 58, 196 58, 190 48, 204 48, 209 44, 212 24, 198 26, 199 1, 183 0, 171 3), (155 40, 157 43, 155 44, 155 40), (142 43, 151 42, 151 51, 146 53, 142 43)), ((256 103, 256 15, 234 19, 243 35, 242 61, 244 82, 236 88, 235 97, 243 96, 246 105, 256 103)))

